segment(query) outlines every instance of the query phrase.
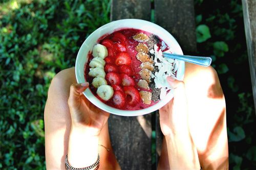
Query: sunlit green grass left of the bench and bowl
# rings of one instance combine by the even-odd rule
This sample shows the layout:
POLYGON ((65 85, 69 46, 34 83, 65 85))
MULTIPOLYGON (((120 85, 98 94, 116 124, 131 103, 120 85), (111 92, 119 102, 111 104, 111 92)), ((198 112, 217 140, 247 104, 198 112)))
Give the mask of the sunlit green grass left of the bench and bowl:
POLYGON ((110 21, 109 1, 0 5, 0 169, 45 169, 44 107, 54 75, 110 21))

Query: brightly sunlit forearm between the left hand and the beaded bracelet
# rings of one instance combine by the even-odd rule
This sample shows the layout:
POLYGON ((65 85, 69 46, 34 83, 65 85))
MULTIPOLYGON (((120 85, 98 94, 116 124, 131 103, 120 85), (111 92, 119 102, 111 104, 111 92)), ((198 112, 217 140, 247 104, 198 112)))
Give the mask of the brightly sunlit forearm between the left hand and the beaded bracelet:
POLYGON ((68 161, 73 167, 87 167, 94 164, 98 156, 98 136, 90 136, 83 129, 71 128, 68 161))

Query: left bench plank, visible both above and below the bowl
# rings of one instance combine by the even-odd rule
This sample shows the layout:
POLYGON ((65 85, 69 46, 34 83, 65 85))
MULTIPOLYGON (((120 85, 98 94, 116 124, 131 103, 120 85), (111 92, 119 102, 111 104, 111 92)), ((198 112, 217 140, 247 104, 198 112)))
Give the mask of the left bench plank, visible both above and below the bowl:
MULTIPOLYGON (((150 20, 150 12, 148 0, 113 0, 111 20, 150 20)), ((109 131, 121 169, 151 169, 151 114, 136 117, 111 114, 109 131)))

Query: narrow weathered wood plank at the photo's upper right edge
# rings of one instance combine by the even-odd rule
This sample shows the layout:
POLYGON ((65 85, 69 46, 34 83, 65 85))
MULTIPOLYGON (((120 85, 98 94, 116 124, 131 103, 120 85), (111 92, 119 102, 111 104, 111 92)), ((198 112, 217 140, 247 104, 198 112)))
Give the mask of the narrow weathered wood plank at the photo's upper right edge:
POLYGON ((256 1, 243 0, 244 27, 256 114, 256 1))

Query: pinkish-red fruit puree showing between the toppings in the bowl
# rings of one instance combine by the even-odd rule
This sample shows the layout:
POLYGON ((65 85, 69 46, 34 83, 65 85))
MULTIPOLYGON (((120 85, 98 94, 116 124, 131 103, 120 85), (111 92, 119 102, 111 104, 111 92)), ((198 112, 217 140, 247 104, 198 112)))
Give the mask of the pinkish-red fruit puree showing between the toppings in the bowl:
MULTIPOLYGON (((137 86, 138 81, 141 79, 140 75, 139 75, 139 71, 141 70, 141 68, 140 68, 141 62, 139 60, 137 60, 137 58, 136 58, 136 55, 137 55, 136 46, 138 45, 139 42, 137 42, 136 40, 133 39, 133 36, 138 34, 138 33, 144 33, 147 36, 150 36, 151 33, 148 33, 148 32, 142 31, 142 30, 136 30, 136 29, 122 29, 122 30, 119 30, 119 31, 116 31, 116 32, 122 33, 126 37, 125 45, 126 45, 126 48, 127 48, 127 53, 130 55, 130 57, 132 59, 131 68, 134 72, 132 77, 134 78, 135 83, 136 83, 135 88, 137 88, 139 91, 144 90, 144 91, 150 91, 151 92, 152 91, 151 89, 142 89, 142 88, 137 86)), ((116 33, 116 32, 114 32, 114 33, 116 33)), ((102 36, 101 38, 98 39, 98 43, 101 43, 102 40, 104 40, 104 39, 111 39, 112 36, 113 36, 113 34, 102 36)), ((159 41, 159 43, 157 44, 159 47, 161 46, 160 42, 161 41, 159 41)), ((87 63, 87 65, 85 65, 85 69, 84 69, 84 78, 86 79, 86 81, 88 81, 90 83, 90 90, 100 101, 102 101, 106 105, 109 105, 111 107, 115 107, 114 104, 113 104, 112 99, 110 99, 109 101, 101 100, 99 98, 99 96, 97 95, 97 93, 96 93, 97 89, 95 87, 93 87, 92 84, 91 84, 92 81, 93 81, 93 78, 88 76, 88 72, 89 72, 89 69, 90 69, 89 63, 92 60, 92 58, 93 58, 92 53, 89 53, 88 54, 88 63, 87 63)), ((125 107, 122 110, 140 110, 140 109, 144 109, 144 108, 150 107, 152 105, 155 105, 157 102, 158 101, 156 101, 156 102, 152 101, 150 105, 146 105, 142 102, 142 100, 140 100, 140 102, 137 103, 133 107, 131 107, 129 105, 125 105, 125 107)))

